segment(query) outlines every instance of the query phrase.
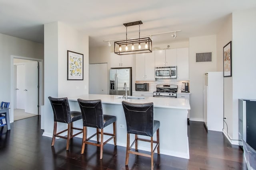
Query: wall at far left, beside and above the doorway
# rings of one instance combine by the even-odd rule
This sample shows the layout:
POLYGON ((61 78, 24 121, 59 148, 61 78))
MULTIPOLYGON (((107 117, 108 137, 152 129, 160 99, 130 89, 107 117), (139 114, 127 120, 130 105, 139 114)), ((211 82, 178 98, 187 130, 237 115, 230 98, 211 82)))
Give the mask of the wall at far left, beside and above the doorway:
MULTIPOLYGON (((0 101, 11 101, 11 55, 44 59, 44 45, 0 33, 0 72, 4 80, 4 83, 0 83, 0 101)), ((13 115, 12 103, 10 108, 10 115, 13 115)))

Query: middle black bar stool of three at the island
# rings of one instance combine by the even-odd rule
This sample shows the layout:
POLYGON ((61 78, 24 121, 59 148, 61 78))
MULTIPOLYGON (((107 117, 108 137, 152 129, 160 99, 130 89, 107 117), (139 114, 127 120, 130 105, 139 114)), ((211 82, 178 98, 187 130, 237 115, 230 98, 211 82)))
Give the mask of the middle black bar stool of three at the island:
POLYGON ((84 135, 83 135, 83 144, 81 154, 84 153, 85 144, 94 145, 100 147, 100 159, 102 159, 103 155, 103 145, 108 143, 111 139, 114 138, 114 145, 116 146, 116 116, 112 115, 104 115, 102 111, 102 103, 101 100, 82 100, 78 99, 78 104, 81 109, 83 125, 84 125, 84 135), (113 134, 104 133, 104 127, 113 123, 113 134), (95 127, 96 133, 92 136, 86 136, 86 127, 95 127), (100 131, 99 131, 100 129, 100 131), (100 134, 100 142, 99 142, 99 134, 100 134), (92 137, 97 135, 97 143, 88 142, 92 137), (108 140, 103 142, 103 135, 110 135, 108 140))

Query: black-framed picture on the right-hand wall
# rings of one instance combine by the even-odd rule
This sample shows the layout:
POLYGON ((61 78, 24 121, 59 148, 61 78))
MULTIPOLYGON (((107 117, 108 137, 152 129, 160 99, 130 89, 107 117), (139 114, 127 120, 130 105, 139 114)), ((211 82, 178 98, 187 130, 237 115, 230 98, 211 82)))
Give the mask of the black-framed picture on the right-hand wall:
POLYGON ((232 76, 232 42, 223 47, 223 76, 232 76))

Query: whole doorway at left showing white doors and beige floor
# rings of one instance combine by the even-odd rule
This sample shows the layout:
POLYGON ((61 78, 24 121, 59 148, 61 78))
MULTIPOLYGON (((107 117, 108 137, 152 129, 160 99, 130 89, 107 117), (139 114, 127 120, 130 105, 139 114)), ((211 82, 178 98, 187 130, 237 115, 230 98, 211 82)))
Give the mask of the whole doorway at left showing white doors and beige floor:
POLYGON ((13 59, 14 121, 39 114, 39 62, 13 59))

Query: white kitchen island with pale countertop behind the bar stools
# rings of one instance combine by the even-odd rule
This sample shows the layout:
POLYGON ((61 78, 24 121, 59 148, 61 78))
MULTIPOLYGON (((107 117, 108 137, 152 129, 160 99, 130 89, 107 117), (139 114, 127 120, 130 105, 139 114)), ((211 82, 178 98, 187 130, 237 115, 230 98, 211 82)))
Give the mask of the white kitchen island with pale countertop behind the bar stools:
MULTIPOLYGON (((122 96, 87 94, 81 96, 68 97, 70 110, 80 111, 77 99, 84 100, 102 100, 104 114, 116 116, 116 144, 126 147, 126 120, 122 107, 122 96)), ((181 98, 157 98, 145 97, 144 99, 127 99, 131 103, 154 103, 154 120, 160 121, 160 154, 176 156, 189 159, 188 132, 187 132, 187 115, 190 109, 188 99, 181 98)), ((82 127, 82 120, 74 122, 74 127, 82 127)), ((53 129, 53 127, 52 127, 53 129)), ((95 128, 87 128, 88 137, 96 132, 95 128)), ((104 132, 112 132, 112 126, 104 128, 104 132)), ((52 133, 52 132, 51 132, 52 133)), ((78 137, 82 137, 78 136, 78 137)), ((150 139, 150 137, 141 136, 141 138, 150 139)), ((96 137, 92 138, 96 141, 96 137)), ((134 135, 131 135, 131 141, 134 135)), ((154 134, 156 140, 156 134, 154 134)), ((113 140, 109 141, 114 144, 113 140)), ((138 142, 139 150, 150 151, 150 143, 138 142)))

